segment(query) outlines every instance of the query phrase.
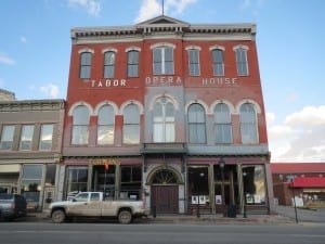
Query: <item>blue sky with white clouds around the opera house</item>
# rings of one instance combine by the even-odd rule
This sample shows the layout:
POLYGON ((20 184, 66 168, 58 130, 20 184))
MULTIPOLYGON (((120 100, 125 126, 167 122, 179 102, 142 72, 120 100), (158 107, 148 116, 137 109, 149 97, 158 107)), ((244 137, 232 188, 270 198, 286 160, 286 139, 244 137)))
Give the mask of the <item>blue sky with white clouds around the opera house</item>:
MULTIPOLYGON (((0 88, 66 99, 74 27, 134 25, 162 0, 1 0, 0 88)), ((271 162, 325 163, 325 1, 165 0, 191 24, 257 24, 271 162)))

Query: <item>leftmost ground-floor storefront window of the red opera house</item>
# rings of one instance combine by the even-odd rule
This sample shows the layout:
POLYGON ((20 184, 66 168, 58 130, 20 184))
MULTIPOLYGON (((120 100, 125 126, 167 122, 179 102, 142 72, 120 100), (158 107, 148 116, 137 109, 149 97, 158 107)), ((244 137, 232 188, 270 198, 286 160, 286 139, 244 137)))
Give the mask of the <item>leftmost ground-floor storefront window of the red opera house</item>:
POLYGON ((74 194, 73 192, 87 191, 87 182, 88 168, 74 167, 68 169, 68 195, 74 194))

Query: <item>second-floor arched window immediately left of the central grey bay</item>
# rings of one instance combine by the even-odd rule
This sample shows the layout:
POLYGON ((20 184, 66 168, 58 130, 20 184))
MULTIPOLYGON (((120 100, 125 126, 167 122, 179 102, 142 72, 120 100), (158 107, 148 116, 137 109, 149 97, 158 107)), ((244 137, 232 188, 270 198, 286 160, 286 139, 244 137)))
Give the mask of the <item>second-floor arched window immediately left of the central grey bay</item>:
POLYGON ((123 143, 140 143, 140 112, 135 104, 129 104, 123 111, 123 143))

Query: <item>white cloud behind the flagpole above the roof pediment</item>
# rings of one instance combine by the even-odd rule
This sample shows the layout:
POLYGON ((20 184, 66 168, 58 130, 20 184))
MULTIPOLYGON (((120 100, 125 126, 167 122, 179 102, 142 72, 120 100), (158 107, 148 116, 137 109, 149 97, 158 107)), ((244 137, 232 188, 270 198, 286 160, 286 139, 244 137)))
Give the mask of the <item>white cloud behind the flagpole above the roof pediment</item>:
MULTIPOLYGON (((164 14, 181 14, 185 8, 197 0, 166 0, 164 3, 164 14)), ((135 23, 150 20, 162 14, 162 2, 160 0, 142 0, 135 23)))

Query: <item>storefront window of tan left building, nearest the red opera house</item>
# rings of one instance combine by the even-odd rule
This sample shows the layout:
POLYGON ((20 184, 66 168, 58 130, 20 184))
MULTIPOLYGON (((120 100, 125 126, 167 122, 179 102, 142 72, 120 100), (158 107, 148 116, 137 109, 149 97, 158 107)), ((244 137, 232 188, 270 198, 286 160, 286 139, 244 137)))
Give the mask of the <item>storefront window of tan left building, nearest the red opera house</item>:
POLYGON ((24 165, 22 177, 22 194, 27 207, 37 209, 39 204, 42 179, 42 165, 24 165))

